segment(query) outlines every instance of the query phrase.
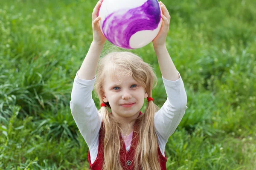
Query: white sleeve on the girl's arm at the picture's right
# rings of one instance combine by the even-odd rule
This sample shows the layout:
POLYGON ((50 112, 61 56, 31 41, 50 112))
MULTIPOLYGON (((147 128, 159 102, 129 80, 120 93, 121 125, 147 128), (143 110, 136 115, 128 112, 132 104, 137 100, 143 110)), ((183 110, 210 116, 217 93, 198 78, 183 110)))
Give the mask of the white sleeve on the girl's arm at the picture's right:
MULTIPOLYGON (((180 73, 178 72, 179 76, 180 73)), ((155 113, 154 126, 159 147, 164 155, 164 149, 169 137, 174 133, 187 109, 187 96, 181 77, 176 81, 163 79, 167 100, 155 113)))

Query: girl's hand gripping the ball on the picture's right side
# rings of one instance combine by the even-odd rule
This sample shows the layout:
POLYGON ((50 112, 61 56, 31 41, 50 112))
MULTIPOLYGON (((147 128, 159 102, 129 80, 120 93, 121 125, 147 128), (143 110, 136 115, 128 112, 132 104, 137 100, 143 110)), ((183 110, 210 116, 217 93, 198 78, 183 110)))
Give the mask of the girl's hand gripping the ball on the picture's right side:
POLYGON ((160 28, 160 31, 157 34, 157 37, 155 37, 153 40, 154 48, 166 45, 166 37, 169 31, 169 25, 171 21, 171 16, 166 6, 161 1, 159 2, 159 5, 162 11, 161 18, 163 21, 162 21, 162 26, 160 28))

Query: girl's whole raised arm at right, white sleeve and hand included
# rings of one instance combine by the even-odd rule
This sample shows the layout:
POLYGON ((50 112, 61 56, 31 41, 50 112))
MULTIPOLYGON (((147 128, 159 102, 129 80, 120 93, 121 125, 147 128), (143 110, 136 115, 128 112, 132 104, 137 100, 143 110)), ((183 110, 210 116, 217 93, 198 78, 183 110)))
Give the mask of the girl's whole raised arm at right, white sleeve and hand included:
POLYGON ((166 6, 160 2, 163 23, 160 32, 153 40, 163 83, 165 85, 167 100, 163 107, 154 116, 154 126, 157 133, 159 147, 164 155, 165 145, 169 136, 174 133, 187 109, 187 97, 183 81, 175 68, 166 48, 166 37, 169 31, 171 16, 166 6))

